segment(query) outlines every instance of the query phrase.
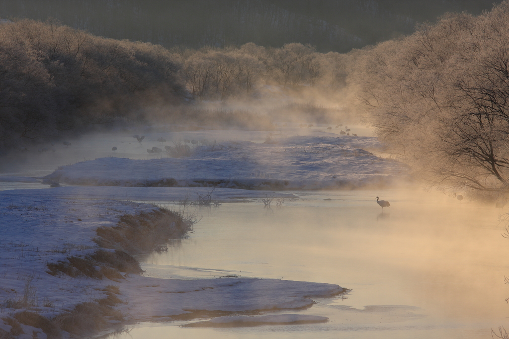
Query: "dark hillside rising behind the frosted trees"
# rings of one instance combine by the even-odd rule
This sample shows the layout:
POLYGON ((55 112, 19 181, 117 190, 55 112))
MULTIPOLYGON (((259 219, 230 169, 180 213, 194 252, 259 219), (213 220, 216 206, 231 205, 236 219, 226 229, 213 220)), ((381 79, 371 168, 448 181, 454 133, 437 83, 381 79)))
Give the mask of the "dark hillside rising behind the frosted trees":
POLYGON ((414 32, 445 12, 477 15, 494 0, 3 0, 1 18, 53 18, 114 39, 184 46, 264 47, 287 43, 317 51, 352 48, 414 32))

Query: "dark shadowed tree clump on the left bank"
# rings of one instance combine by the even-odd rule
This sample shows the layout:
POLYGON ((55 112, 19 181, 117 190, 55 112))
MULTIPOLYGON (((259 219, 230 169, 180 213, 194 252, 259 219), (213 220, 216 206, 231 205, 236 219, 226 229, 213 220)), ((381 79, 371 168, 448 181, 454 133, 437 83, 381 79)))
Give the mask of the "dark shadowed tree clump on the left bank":
POLYGON ((93 36, 52 22, 0 23, 0 151, 136 119, 178 103, 179 66, 161 46, 93 36))

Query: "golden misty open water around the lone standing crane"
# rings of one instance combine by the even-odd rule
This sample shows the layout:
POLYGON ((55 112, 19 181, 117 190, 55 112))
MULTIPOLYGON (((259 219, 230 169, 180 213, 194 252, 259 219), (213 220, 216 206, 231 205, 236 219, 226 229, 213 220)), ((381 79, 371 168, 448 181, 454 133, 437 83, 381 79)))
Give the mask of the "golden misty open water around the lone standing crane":
POLYGON ((509 240, 494 206, 422 191, 296 194, 301 199, 271 210, 257 203, 202 209, 189 239, 143 258, 144 268, 167 278, 236 274, 352 289, 348 299, 318 300, 300 311, 328 323, 234 329, 145 323, 120 337, 489 338, 491 328, 507 323, 509 240), (391 203, 383 214, 377 195, 391 203))

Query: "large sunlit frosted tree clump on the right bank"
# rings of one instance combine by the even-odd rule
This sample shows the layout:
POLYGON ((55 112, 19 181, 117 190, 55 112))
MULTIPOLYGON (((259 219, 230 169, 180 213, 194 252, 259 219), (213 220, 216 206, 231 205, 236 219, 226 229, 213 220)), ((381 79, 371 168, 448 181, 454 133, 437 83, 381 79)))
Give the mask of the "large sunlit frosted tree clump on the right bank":
POLYGON ((353 101, 430 184, 497 193, 509 180, 509 2, 447 14, 365 48, 353 101))

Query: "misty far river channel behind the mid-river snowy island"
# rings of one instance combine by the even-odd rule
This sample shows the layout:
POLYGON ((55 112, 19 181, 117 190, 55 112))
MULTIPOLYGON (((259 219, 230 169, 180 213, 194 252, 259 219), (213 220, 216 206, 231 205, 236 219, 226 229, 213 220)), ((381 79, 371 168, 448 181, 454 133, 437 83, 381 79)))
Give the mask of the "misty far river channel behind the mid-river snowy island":
MULTIPOLYGON (((199 131, 173 131, 168 132, 172 126, 159 126, 144 128, 130 128, 128 130, 93 133, 77 138, 67 138, 71 146, 65 146, 62 142, 47 143, 37 148, 30 148, 27 152, 11 152, 0 162, 0 174, 2 176, 28 176, 43 177, 52 173, 57 167, 74 164, 80 161, 94 160, 101 157, 119 157, 129 159, 153 159, 167 157, 168 155, 150 155, 147 149, 153 146, 164 148, 163 145, 174 146, 175 143, 182 143, 185 139, 202 140, 207 138, 211 142, 220 143, 223 140, 248 140, 254 143, 263 143, 269 135, 278 138, 286 138, 291 135, 318 135, 327 131, 329 135, 338 136, 340 129, 328 131, 330 124, 313 124, 310 128, 300 128, 298 123, 277 123, 273 131, 245 131, 245 130, 199 130, 199 131), (282 127, 282 125, 288 125, 282 127), (144 135, 143 143, 138 143, 133 134, 144 135), (161 144, 157 141, 161 136, 167 142, 161 144), (112 147, 117 150, 112 151, 112 147), (47 151, 40 152, 42 149, 47 151)), ((373 131, 363 125, 350 124, 359 136, 374 136, 373 131)), ((332 125, 333 127, 333 125, 332 125)), ((325 135, 325 133, 324 133, 325 135)), ((39 183, 7 183, 0 180, 0 190, 15 189, 26 186, 26 188, 46 188, 39 183)))

